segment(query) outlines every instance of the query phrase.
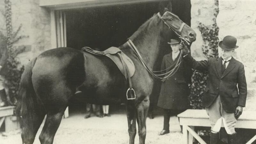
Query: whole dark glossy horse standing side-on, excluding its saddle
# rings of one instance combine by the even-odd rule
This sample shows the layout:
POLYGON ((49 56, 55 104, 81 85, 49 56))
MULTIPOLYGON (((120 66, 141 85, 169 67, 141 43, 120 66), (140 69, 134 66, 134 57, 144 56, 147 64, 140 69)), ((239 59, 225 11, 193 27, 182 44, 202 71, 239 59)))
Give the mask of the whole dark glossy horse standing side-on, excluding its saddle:
MULTIPOLYGON (((173 34, 192 43, 195 31, 167 8, 160 8, 129 38, 137 47, 149 70, 152 70, 161 50, 173 34), (170 30, 172 29, 172 30, 170 30)), ((85 93, 81 100, 87 103, 110 105, 125 103, 128 121, 129 143, 134 144, 136 120, 139 143, 146 139, 146 118, 153 77, 143 67, 140 59, 128 43, 119 46, 134 63, 135 73, 131 77, 136 99, 126 99, 129 87, 123 74, 108 57, 61 47, 47 50, 29 61, 21 76, 17 116, 21 126, 23 144, 31 144, 46 116, 39 140, 52 144, 68 101, 76 89, 85 93)))

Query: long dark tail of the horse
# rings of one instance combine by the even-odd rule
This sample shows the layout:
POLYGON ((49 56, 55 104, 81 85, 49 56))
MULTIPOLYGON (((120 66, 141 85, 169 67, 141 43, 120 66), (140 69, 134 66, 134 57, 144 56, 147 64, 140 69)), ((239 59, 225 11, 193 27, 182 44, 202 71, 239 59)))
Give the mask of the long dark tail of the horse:
POLYGON ((35 106, 37 100, 32 84, 32 69, 35 63, 36 58, 28 63, 20 79, 16 115, 19 119, 21 128, 29 127, 29 123, 33 120, 36 113, 35 106))

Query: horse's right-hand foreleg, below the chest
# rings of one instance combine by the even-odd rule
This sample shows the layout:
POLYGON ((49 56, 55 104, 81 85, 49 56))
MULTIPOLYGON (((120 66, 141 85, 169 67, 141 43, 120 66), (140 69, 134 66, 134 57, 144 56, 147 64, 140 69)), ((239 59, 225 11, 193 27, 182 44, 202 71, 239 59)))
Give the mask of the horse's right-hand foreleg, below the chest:
POLYGON ((146 119, 148 115, 149 108, 149 96, 141 101, 140 104, 136 106, 137 108, 137 123, 139 128, 139 144, 145 144, 146 139, 146 119))

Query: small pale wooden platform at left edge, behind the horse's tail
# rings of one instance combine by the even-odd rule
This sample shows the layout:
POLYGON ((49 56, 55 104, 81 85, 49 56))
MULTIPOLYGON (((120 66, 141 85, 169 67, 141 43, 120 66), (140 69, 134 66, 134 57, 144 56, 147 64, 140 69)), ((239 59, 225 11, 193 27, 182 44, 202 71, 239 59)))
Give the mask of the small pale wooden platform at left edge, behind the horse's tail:
POLYGON ((0 127, 5 123, 5 132, 19 128, 16 116, 13 116, 14 106, 0 107, 0 127))

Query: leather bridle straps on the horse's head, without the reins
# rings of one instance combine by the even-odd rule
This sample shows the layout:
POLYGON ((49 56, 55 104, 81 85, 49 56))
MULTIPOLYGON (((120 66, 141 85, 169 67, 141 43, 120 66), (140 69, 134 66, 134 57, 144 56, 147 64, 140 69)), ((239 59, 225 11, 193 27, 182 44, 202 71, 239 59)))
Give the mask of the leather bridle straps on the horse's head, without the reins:
MULTIPOLYGON (((167 11, 167 12, 168 12, 168 11, 167 11)), ((167 13, 167 12, 164 12, 164 14, 167 13)), ((168 12, 168 13, 171 13, 171 12, 168 12)), ((164 15, 164 14, 163 14, 163 15, 164 15)), ((173 13, 171 13, 171 14, 174 15, 173 13)), ((179 34, 174 30, 174 29, 176 29, 176 28, 174 28, 172 25, 169 25, 169 24, 163 19, 163 16, 160 15, 160 12, 157 13, 157 16, 164 22, 165 25, 167 25, 167 27, 168 27, 169 29, 171 29, 172 31, 174 31, 174 33, 175 33, 177 36, 179 36, 180 41, 181 41, 182 43, 186 42, 188 45, 190 45, 190 43, 189 43, 184 37, 182 37, 181 35, 179 35, 179 34)), ((185 22, 182 22, 182 24, 181 24, 181 26, 180 26, 180 28, 179 28, 179 30, 178 30, 179 33, 181 33, 181 31, 182 31, 182 29, 184 28, 185 25, 186 25, 186 23, 185 23, 185 22)))

